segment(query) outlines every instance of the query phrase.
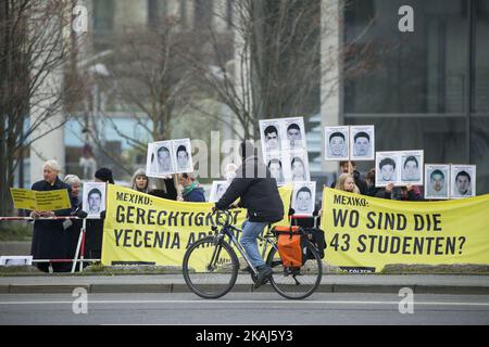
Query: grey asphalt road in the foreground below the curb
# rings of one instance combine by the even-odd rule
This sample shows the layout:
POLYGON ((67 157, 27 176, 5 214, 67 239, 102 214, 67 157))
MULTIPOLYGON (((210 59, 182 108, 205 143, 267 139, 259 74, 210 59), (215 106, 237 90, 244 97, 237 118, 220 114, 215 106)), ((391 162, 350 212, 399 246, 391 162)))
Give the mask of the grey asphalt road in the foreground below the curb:
POLYGON ((1 294, 0 324, 489 324, 489 296, 480 295, 416 294, 412 313, 404 314, 398 294, 316 293, 300 301, 275 293, 230 293, 218 300, 186 293, 88 294, 86 305, 80 298, 1 294))

